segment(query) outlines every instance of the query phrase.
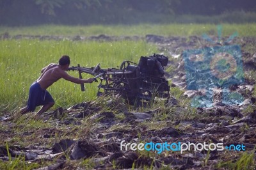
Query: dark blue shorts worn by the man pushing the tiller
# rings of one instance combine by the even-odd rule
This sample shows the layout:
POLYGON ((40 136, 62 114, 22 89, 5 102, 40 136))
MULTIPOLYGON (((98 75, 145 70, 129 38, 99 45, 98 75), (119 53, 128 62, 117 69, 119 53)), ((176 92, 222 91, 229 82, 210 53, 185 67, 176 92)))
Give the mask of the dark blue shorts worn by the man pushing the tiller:
POLYGON ((29 98, 28 98, 28 111, 35 111, 36 106, 45 105, 48 103, 54 103, 54 100, 50 93, 42 89, 38 82, 33 82, 33 84, 29 88, 29 98))

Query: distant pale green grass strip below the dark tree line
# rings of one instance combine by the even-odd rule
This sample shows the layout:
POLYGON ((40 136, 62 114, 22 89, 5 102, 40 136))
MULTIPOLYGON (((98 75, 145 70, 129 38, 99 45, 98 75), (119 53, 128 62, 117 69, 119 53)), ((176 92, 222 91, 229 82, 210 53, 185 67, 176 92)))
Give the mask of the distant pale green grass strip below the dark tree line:
MULTIPOLYGON (((222 24, 223 36, 230 36, 235 31, 239 36, 256 36, 256 24, 222 24)), ((149 34, 163 36, 201 36, 203 33, 217 35, 216 24, 138 24, 138 25, 92 25, 58 26, 42 25, 30 27, 0 26, 0 35, 63 35, 63 36, 145 36, 149 34)))

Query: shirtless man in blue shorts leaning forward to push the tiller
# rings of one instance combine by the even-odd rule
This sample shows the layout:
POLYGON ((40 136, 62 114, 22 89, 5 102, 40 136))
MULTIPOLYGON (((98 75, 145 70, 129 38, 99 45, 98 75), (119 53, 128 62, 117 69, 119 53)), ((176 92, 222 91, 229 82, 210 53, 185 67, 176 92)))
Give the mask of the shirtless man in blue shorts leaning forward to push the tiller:
POLYGON ((65 70, 67 70, 69 65, 69 57, 62 56, 58 65, 52 63, 45 66, 45 68, 41 70, 42 74, 40 77, 30 86, 28 105, 20 109, 20 113, 25 114, 30 111, 33 112, 38 105, 43 105, 43 107, 36 113, 36 115, 40 115, 50 109, 54 105, 54 100, 46 89, 61 78, 77 84, 93 82, 93 78, 78 79, 68 75, 65 70))

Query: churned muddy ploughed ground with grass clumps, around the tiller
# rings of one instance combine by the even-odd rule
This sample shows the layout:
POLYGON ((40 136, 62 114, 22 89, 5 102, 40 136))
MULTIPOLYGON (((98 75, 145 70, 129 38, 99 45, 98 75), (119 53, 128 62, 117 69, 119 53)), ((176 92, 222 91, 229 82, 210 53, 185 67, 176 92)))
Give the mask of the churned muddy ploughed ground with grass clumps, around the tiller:
MULTIPOLYGON (((167 105, 136 109, 124 104, 122 98, 106 97, 84 101, 68 109, 47 112, 42 119, 49 127, 38 127, 19 134, 19 117, 6 114, 0 118, 0 136, 8 141, 20 138, 37 139, 36 143, 6 148, 0 146, 0 158, 24 157, 38 169, 254 169, 256 144, 256 38, 235 38, 228 44, 241 47, 244 82, 230 86, 244 97, 243 102, 227 105, 221 102, 220 88, 212 90, 211 107, 190 107, 189 99, 204 91, 188 90, 182 52, 188 49, 211 47, 198 36, 163 37, 140 36, 28 36, 8 34, 1 39, 118 41, 145 40, 157 45, 169 57, 165 76, 172 81, 167 105), (15 131, 15 130, 14 130, 15 131), (36 136, 36 137, 35 137, 36 136), (223 151, 120 151, 120 143, 223 143, 243 144, 245 151, 224 148, 223 151), (86 161, 87 162, 86 162, 86 161), (44 163, 42 163, 44 162, 44 163)), ((228 38, 226 38, 227 40, 228 38)), ((217 40, 217 38, 213 38, 217 40)), ((226 44, 227 45, 227 44, 226 44)), ((28 115, 29 118, 29 115, 28 115)))

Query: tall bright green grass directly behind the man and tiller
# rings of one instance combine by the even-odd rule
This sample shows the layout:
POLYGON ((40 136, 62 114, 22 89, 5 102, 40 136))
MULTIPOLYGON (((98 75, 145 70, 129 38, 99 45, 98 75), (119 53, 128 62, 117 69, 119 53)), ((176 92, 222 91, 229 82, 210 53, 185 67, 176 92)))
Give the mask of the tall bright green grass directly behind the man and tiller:
MULTIPOLYGON (((0 103, 5 109, 1 112, 17 110, 28 100, 29 86, 40 76, 40 70, 49 63, 58 63, 63 54, 70 56, 70 66, 96 66, 101 68, 120 66, 122 61, 138 63, 140 56, 157 53, 156 46, 146 42, 70 42, 38 40, 1 40, 0 41, 0 103)), ((68 72, 78 77, 77 72, 68 72)), ((83 74, 84 79, 92 77, 83 74)), ((54 98, 56 107, 68 107, 72 104, 92 100, 97 93, 97 85, 85 84, 86 91, 81 92, 80 85, 61 79, 47 90, 54 98)))

